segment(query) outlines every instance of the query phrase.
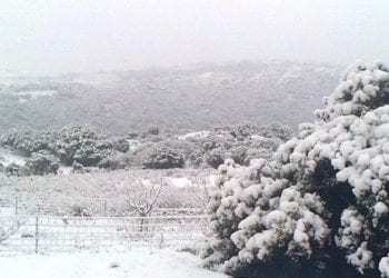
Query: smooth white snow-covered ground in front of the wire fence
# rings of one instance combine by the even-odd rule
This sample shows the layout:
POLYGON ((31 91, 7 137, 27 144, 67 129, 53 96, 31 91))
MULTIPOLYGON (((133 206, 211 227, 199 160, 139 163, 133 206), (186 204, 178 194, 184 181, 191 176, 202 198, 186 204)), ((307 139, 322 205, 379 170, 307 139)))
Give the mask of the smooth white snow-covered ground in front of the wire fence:
POLYGON ((227 278, 198 266, 197 256, 137 248, 126 254, 80 252, 0 257, 1 278, 227 278))

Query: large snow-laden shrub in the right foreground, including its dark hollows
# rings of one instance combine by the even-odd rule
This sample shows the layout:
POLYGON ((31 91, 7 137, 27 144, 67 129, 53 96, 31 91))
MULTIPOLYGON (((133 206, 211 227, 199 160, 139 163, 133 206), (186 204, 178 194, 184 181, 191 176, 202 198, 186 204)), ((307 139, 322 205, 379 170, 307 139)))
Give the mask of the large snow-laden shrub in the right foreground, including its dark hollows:
POLYGON ((206 266, 236 277, 389 277, 388 69, 349 68, 325 105, 256 175, 220 168, 206 266))

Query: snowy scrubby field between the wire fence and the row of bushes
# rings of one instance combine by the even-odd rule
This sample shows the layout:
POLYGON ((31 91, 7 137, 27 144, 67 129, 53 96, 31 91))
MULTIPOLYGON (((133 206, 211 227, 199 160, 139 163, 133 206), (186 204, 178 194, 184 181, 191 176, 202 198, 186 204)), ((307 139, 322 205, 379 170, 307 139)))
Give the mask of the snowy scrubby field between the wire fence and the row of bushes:
POLYGON ((20 209, 29 214, 39 208, 40 212, 50 215, 72 215, 73 207, 84 207, 93 216, 127 216, 129 193, 141 195, 147 187, 163 186, 166 193, 159 207, 199 208, 203 207, 205 188, 211 188, 215 178, 216 171, 211 169, 117 170, 43 177, 0 175, 0 207, 14 207, 18 197, 20 209))

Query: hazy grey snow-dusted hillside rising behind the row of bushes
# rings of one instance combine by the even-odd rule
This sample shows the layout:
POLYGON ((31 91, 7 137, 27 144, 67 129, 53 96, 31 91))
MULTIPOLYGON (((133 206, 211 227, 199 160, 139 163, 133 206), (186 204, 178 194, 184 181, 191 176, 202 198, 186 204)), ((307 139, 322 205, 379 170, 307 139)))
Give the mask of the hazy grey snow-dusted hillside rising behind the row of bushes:
POLYGON ((0 129, 88 123, 123 135, 311 120, 338 83, 322 63, 229 62, 59 77, 0 75, 0 129))

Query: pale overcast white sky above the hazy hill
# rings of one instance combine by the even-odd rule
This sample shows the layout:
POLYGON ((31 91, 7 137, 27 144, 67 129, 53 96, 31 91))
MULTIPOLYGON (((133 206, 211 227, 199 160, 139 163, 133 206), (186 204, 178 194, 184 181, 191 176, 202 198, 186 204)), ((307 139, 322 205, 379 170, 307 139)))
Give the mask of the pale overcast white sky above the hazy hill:
POLYGON ((389 0, 1 0, 0 69, 389 61, 389 0))

